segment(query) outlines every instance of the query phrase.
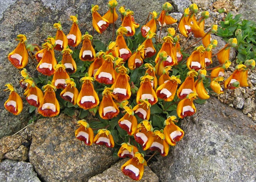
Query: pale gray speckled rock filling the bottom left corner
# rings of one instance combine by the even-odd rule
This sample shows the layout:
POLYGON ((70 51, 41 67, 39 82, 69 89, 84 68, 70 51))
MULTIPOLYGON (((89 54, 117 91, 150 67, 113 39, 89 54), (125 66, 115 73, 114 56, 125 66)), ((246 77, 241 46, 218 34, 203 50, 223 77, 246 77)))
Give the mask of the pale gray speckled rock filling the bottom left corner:
POLYGON ((31 163, 6 159, 0 163, 0 181, 41 182, 31 163))

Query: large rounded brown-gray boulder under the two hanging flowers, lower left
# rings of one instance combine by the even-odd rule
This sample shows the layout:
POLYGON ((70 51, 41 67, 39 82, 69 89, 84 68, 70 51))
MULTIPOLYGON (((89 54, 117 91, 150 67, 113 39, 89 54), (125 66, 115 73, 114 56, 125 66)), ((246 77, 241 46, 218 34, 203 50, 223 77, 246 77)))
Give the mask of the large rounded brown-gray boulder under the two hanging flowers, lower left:
POLYGON ((43 181, 87 181, 116 162, 113 149, 76 139, 76 122, 61 114, 34 125, 29 160, 43 181))

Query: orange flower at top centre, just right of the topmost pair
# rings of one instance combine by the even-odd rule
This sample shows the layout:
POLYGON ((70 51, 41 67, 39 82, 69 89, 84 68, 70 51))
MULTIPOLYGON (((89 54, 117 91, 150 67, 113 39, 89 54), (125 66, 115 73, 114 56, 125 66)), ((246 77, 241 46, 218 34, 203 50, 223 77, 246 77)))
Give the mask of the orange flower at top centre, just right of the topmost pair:
POLYGON ((127 30, 126 36, 133 36, 135 34, 135 29, 139 27, 139 24, 134 22, 133 11, 126 10, 121 26, 127 30))

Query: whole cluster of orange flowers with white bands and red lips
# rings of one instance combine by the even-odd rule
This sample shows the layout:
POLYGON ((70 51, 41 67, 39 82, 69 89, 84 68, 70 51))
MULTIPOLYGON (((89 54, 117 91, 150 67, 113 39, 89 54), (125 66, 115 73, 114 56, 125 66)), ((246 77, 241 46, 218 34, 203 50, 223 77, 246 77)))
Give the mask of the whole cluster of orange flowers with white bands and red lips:
MULTIPOLYGON (((105 31, 109 24, 117 20, 116 0, 110 0, 108 3, 109 11, 101 16, 98 14, 98 5, 92 5, 91 12, 93 17, 93 27, 98 33, 105 31)), ((150 119, 150 107, 158 102, 159 99, 171 102, 174 99, 177 91, 177 97, 180 101, 177 104, 177 116, 184 118, 191 116, 196 112, 196 107, 193 101, 199 97, 200 99, 208 99, 206 88, 203 80, 206 79, 207 69, 212 63, 212 48, 217 46, 217 41, 210 41, 211 33, 217 30, 214 25, 208 32, 204 32, 204 19, 208 18, 209 13, 203 12, 201 17, 196 20, 195 14, 198 11, 196 4, 192 4, 185 9, 178 30, 184 37, 188 37, 189 33, 193 33, 195 37, 201 38, 203 45, 198 46, 192 54, 185 59, 183 58, 180 46, 180 38, 176 35, 173 28, 167 29, 167 36, 163 37, 163 44, 157 53, 153 45, 153 38, 157 30, 157 21, 162 27, 176 23, 177 20, 169 15, 172 9, 170 3, 165 3, 162 6, 162 12, 157 19, 157 12, 153 11, 150 14, 152 19, 146 25, 142 26, 141 34, 145 41, 138 46, 132 53, 127 47, 124 36, 133 36, 135 29, 139 24, 135 22, 133 11, 125 10, 120 7, 121 12, 121 27, 116 31, 116 41, 109 43, 107 51, 95 52, 91 45, 93 36, 86 32, 82 36, 78 27, 77 16, 71 16, 73 24, 69 34, 66 36, 60 23, 55 23, 53 26, 57 29, 55 38, 48 37, 47 42, 39 46, 27 45, 25 35, 18 35, 19 42, 16 49, 8 55, 8 59, 18 69, 26 66, 28 58, 35 58, 38 61, 37 71, 46 76, 53 75, 52 81, 42 87, 44 94, 39 89, 26 69, 21 71, 23 79, 20 85, 25 88, 24 95, 27 102, 38 108, 38 113, 45 117, 53 117, 59 114, 60 105, 56 99, 56 89, 62 89, 60 96, 65 101, 71 102, 73 105, 78 105, 84 110, 98 109, 99 116, 103 120, 110 120, 120 113, 120 109, 124 110, 123 117, 118 121, 119 126, 124 129, 129 136, 134 136, 137 143, 142 145, 145 151, 150 149, 158 151, 162 156, 166 156, 169 152, 169 145, 176 145, 176 142, 181 140, 184 132, 174 123, 176 116, 169 116, 165 120, 163 130, 154 130, 150 119), (175 36, 176 35, 176 36, 175 36), (76 62, 72 58, 73 51, 70 47, 76 47, 83 41, 82 48, 79 53, 79 58, 82 61, 93 61, 84 77, 80 79, 82 87, 80 92, 76 88, 74 79, 69 75, 76 72, 76 62), (62 60, 59 64, 54 57, 54 49, 61 51, 62 60), (129 83, 129 69, 134 70, 143 65, 146 58, 150 58, 157 53, 155 58, 155 66, 152 64, 144 64, 146 69, 145 75, 140 78, 140 87, 137 90, 135 107, 127 106, 132 92, 129 83), (169 76, 172 67, 178 65, 179 62, 187 60, 187 68, 189 69, 185 81, 181 84, 179 76, 169 76), (127 61, 128 68, 124 66, 127 61), (158 78, 157 78, 158 77, 158 78), (195 81, 195 77, 197 80, 195 81), (102 92, 102 101, 100 102, 97 92, 94 90, 93 81, 98 83, 112 85, 106 87, 102 92), (180 87, 178 88, 178 85, 180 87), (99 105, 99 107, 98 107, 99 105), (138 124, 135 114, 143 121, 138 124)), ((161 32, 160 31, 160 32, 161 32)), ((200 39, 200 40, 201 40, 200 39)), ((229 67, 229 49, 236 46, 236 38, 230 39, 227 45, 217 53, 217 58, 220 65, 211 71, 211 88, 217 94, 223 93, 221 82, 224 80, 224 71, 229 67)), ((255 61, 248 60, 244 64, 239 64, 234 73, 224 81, 225 89, 233 89, 239 86, 248 86, 247 73, 248 68, 254 68, 255 61)), ((5 102, 5 108, 11 113, 18 115, 22 111, 22 99, 15 92, 11 84, 6 84, 6 90, 10 91, 8 100, 5 102)), ((106 147, 114 147, 114 140, 109 130, 99 129, 94 137, 93 130, 85 120, 78 121, 80 127, 75 131, 75 136, 84 141, 87 145, 93 143, 105 145, 106 147)), ((132 179, 139 180, 143 175, 143 166, 146 165, 144 156, 139 153, 138 148, 129 144, 123 143, 118 152, 118 156, 131 158, 121 168, 125 175, 132 179)))

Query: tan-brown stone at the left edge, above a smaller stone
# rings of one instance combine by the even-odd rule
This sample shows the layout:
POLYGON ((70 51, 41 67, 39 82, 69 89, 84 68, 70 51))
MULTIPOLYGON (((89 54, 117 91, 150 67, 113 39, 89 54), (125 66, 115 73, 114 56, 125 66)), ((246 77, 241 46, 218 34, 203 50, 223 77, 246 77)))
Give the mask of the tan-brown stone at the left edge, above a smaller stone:
MULTIPOLYGON (((27 143, 27 140, 19 135, 7 136, 0 139, 0 161, 4 159, 4 155, 8 152, 13 152, 21 145, 27 143)), ((20 156, 20 159, 24 159, 24 156, 20 156)))

